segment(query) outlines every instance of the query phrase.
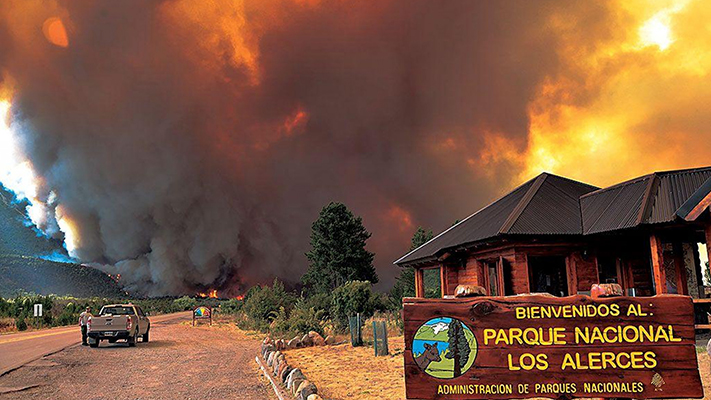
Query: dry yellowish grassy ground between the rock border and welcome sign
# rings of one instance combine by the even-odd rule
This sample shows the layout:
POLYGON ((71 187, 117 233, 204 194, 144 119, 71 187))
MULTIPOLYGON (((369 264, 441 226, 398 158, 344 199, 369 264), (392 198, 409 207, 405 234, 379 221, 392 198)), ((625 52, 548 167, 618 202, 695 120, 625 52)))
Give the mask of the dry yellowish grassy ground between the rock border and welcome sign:
MULTIPOLYGON (((403 337, 389 338, 389 345, 390 356, 386 357, 375 357, 372 347, 353 348, 349 343, 287 350, 285 355, 290 365, 301 368, 316 384, 324 398, 404 400, 403 337)), ((704 398, 711 399, 709 356, 705 349, 697 356, 704 398)))

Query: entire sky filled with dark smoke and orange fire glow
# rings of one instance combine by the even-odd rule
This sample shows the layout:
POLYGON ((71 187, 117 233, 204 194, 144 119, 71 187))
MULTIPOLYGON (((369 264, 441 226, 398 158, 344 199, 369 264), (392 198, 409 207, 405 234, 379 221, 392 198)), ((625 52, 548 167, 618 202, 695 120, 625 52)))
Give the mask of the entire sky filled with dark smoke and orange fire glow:
POLYGON ((131 290, 239 293, 307 267, 330 201, 386 289, 547 171, 711 164, 704 1, 7 0, 0 182, 131 290))

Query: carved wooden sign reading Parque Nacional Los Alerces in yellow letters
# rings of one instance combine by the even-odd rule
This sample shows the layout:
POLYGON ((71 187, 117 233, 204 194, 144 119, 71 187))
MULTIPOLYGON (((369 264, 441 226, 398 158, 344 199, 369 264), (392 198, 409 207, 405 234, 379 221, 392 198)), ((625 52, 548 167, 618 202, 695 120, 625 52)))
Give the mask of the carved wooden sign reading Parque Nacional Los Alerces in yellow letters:
POLYGON ((703 397, 687 296, 403 303, 408 399, 703 397))

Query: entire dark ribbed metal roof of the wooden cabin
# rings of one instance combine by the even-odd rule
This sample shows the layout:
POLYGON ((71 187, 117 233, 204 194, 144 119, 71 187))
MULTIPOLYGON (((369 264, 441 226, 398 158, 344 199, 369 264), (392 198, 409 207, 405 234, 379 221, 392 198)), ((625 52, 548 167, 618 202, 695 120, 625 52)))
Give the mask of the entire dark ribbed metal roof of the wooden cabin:
POLYGON ((435 260, 504 235, 590 235, 671 222, 710 191, 711 167, 655 172, 605 189, 543 173, 395 263, 435 260))

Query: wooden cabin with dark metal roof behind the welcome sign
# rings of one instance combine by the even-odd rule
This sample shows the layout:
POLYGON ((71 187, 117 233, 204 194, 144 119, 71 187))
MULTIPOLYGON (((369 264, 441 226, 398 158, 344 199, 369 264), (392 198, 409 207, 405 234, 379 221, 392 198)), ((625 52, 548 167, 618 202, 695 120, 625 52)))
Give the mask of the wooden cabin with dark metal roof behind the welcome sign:
POLYGON ((602 189, 543 173, 395 264, 415 269, 417 297, 424 297, 424 270, 436 268, 443 296, 459 284, 491 296, 567 296, 619 283, 630 296, 678 293, 704 303, 711 301, 701 265, 711 253, 710 206, 711 167, 602 189))

